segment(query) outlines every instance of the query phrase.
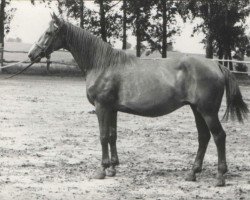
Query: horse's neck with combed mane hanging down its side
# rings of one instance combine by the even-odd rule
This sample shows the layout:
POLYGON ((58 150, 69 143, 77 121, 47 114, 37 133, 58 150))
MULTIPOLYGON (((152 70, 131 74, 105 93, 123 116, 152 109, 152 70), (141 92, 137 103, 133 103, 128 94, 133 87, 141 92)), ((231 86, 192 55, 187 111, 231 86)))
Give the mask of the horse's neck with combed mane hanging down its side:
POLYGON ((137 58, 111 47, 88 31, 64 22, 67 44, 75 49, 75 56, 84 68, 106 69, 132 64, 137 58))

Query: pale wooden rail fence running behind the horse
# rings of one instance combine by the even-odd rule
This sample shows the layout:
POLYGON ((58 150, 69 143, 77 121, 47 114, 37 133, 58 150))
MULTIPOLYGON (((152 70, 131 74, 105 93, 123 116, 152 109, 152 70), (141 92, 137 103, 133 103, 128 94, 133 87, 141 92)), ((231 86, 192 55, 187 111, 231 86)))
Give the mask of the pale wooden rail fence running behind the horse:
MULTIPOLYGON (((67 50, 58 50, 57 52, 64 52, 64 53, 69 53, 69 51, 67 50)), ((19 61, 15 61, 15 60, 5 60, 3 57, 4 53, 23 53, 23 54, 27 54, 28 51, 10 51, 10 50, 4 50, 3 45, 0 43, 0 65, 3 66, 4 63, 17 63, 19 61)), ((169 59, 169 58, 141 58, 142 60, 165 60, 165 59, 169 59)), ((241 63, 241 64, 250 64, 250 61, 240 61, 240 60, 226 60, 226 59, 212 59, 213 61, 217 61, 217 62, 222 62, 222 63, 241 63)), ((30 63, 29 61, 25 61, 23 63, 30 63)), ((60 61, 51 61, 50 58, 47 59, 47 61, 41 61, 40 63, 42 64, 46 64, 47 65, 47 70, 49 71, 50 65, 51 64, 58 64, 58 65, 65 65, 65 66, 77 66, 76 64, 73 63, 66 63, 66 62, 60 62, 60 61)), ((236 70, 232 70, 231 72, 233 73, 237 73, 237 74, 247 74, 248 76, 250 76, 250 72, 241 72, 241 71, 236 71, 236 70)))

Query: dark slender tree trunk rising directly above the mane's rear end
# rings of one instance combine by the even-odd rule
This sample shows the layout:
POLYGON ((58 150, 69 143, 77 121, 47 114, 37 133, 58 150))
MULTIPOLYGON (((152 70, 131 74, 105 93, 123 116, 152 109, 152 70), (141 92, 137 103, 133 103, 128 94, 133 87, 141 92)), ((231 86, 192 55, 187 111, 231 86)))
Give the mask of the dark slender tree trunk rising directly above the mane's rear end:
POLYGON ((140 6, 139 2, 136 1, 136 56, 141 57, 141 26, 140 26, 140 6))

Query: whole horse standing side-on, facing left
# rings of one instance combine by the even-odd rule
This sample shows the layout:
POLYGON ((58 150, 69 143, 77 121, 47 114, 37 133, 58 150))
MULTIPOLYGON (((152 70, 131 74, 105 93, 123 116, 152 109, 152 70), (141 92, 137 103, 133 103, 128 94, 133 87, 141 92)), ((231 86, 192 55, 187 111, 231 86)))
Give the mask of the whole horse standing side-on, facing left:
POLYGON ((156 117, 189 105, 195 116, 199 147, 186 180, 195 181, 195 174, 201 172, 212 133, 218 152, 217 185, 225 185, 226 134, 218 118, 224 88, 225 117, 236 116, 243 121, 248 113, 239 86, 227 68, 192 57, 140 60, 53 15, 49 28, 31 48, 29 57, 39 62, 60 48, 70 51, 87 74, 87 97, 96 109, 102 145, 102 169, 96 178, 116 174, 118 111, 156 117))

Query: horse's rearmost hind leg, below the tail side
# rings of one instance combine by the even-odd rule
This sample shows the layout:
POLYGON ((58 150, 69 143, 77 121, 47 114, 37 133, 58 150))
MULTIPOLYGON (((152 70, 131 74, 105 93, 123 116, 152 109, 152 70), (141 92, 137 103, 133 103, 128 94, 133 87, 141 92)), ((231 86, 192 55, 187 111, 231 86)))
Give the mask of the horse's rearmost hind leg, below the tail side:
POLYGON ((227 162, 226 162, 226 133, 223 130, 221 123, 218 118, 218 114, 212 115, 203 115, 207 123, 209 130, 211 131, 214 142, 217 147, 218 153, 218 175, 217 175, 217 184, 216 186, 225 185, 224 174, 227 172, 227 162))

